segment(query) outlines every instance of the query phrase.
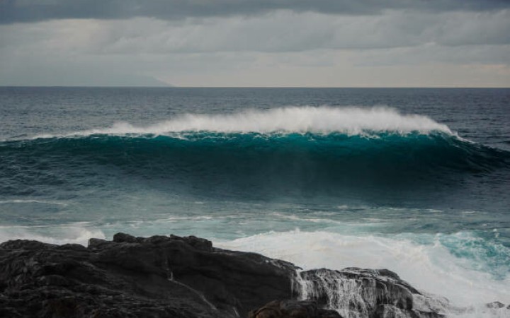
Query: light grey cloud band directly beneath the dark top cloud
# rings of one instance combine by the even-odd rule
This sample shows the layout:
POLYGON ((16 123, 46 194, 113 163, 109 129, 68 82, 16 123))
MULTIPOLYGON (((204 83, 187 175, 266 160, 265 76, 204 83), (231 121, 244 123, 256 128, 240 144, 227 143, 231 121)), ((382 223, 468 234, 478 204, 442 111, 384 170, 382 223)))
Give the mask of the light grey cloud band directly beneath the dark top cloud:
MULTIPOLYGON (((17 55, 20 52, 42 54, 45 50, 52 54, 125 55, 436 45, 463 47, 455 59, 464 60, 463 57, 475 50, 469 46, 492 45, 492 51, 500 52, 497 45, 510 44, 507 30, 510 30, 510 10, 436 14, 385 11, 378 16, 281 11, 250 18, 234 16, 179 22, 134 18, 0 25, 0 48, 11 47, 17 55)), ((492 61, 490 54, 483 57, 487 63, 492 61)))

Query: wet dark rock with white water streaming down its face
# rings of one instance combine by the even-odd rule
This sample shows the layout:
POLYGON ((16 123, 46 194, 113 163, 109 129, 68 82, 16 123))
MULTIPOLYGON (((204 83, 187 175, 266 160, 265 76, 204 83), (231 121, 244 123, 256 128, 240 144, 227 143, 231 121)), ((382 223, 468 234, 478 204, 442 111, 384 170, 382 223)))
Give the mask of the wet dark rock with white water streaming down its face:
POLYGON ((345 317, 444 317, 417 304, 416 298, 425 296, 387 269, 314 269, 300 272, 298 279, 301 298, 336 308, 345 317))

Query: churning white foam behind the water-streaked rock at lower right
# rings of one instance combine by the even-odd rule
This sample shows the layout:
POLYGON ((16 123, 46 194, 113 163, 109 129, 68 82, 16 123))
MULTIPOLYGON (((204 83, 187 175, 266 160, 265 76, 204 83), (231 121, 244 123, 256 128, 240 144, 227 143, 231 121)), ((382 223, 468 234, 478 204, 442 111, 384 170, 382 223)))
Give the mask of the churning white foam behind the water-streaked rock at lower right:
POLYGON ((498 279, 487 271, 472 269, 466 259, 450 254, 438 240, 431 245, 419 245, 402 237, 295 230, 268 232, 216 245, 259 252, 304 269, 349 266, 390 269, 419 290, 448 298, 450 303, 443 308, 448 317, 509 317, 501 316, 509 314, 506 309, 492 310, 485 304, 494 301, 510 304, 510 276, 498 279))

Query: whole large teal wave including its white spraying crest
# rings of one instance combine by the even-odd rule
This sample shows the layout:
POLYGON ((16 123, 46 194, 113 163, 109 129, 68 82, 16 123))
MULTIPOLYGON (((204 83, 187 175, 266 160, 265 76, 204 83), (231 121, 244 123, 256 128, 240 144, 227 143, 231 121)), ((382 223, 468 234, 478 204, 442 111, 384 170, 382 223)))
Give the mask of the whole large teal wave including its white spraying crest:
POLYGON ((38 185, 99 187, 108 176, 158 180, 171 192, 208 195, 378 193, 450 186, 459 182, 459 173, 510 167, 508 151, 465 141, 427 117, 386 108, 188 114, 144 129, 114 126, 4 141, 0 156, 0 193, 11 196, 40 194, 44 187, 38 185))

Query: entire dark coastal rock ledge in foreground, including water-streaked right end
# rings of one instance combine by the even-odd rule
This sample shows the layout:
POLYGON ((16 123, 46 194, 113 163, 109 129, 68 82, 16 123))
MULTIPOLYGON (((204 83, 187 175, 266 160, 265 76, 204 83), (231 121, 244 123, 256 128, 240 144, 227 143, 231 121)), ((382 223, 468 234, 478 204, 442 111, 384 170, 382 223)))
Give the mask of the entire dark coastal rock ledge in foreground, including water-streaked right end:
POLYGON ((0 245, 0 317, 437 318, 387 270, 302 271, 198 237, 0 245))

